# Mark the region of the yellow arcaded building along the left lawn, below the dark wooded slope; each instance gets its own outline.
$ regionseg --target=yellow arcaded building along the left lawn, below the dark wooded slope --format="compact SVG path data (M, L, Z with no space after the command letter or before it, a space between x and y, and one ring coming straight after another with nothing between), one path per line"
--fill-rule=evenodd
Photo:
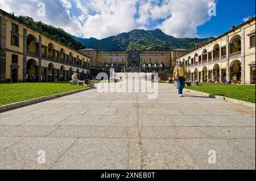
M0 82L67 81L90 77L90 57L0 10Z

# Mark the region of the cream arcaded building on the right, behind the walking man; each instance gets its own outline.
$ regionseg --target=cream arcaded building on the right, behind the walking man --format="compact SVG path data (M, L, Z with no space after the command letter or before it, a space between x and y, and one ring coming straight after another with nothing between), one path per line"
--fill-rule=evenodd
M188 80L255 84L255 17L177 58Z

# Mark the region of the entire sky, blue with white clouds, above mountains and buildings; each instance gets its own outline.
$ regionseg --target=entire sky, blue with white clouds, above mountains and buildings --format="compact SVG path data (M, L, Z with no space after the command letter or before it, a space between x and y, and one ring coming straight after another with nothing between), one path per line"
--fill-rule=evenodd
M44 16L38 15L40 2ZM216 16L208 15L212 2ZM1 0L0 8L97 39L155 28L175 37L212 37L255 16L255 0Z

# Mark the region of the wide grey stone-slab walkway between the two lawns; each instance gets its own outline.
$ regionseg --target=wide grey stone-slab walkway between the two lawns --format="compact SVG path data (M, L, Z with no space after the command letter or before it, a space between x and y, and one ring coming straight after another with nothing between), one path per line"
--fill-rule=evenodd
M84 91L1 113L0 169L255 169L255 110L166 84Z

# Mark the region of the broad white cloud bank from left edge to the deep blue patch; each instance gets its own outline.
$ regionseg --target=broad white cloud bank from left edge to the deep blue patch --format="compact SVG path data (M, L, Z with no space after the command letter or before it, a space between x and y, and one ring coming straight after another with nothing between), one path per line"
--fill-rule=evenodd
M197 27L210 19L208 3L214 0L1 0L0 8L31 16L80 37L104 37L134 29L147 30L161 19L160 28L175 37L197 37ZM37 4L46 3L46 16ZM19 3L19 6L16 4Z

